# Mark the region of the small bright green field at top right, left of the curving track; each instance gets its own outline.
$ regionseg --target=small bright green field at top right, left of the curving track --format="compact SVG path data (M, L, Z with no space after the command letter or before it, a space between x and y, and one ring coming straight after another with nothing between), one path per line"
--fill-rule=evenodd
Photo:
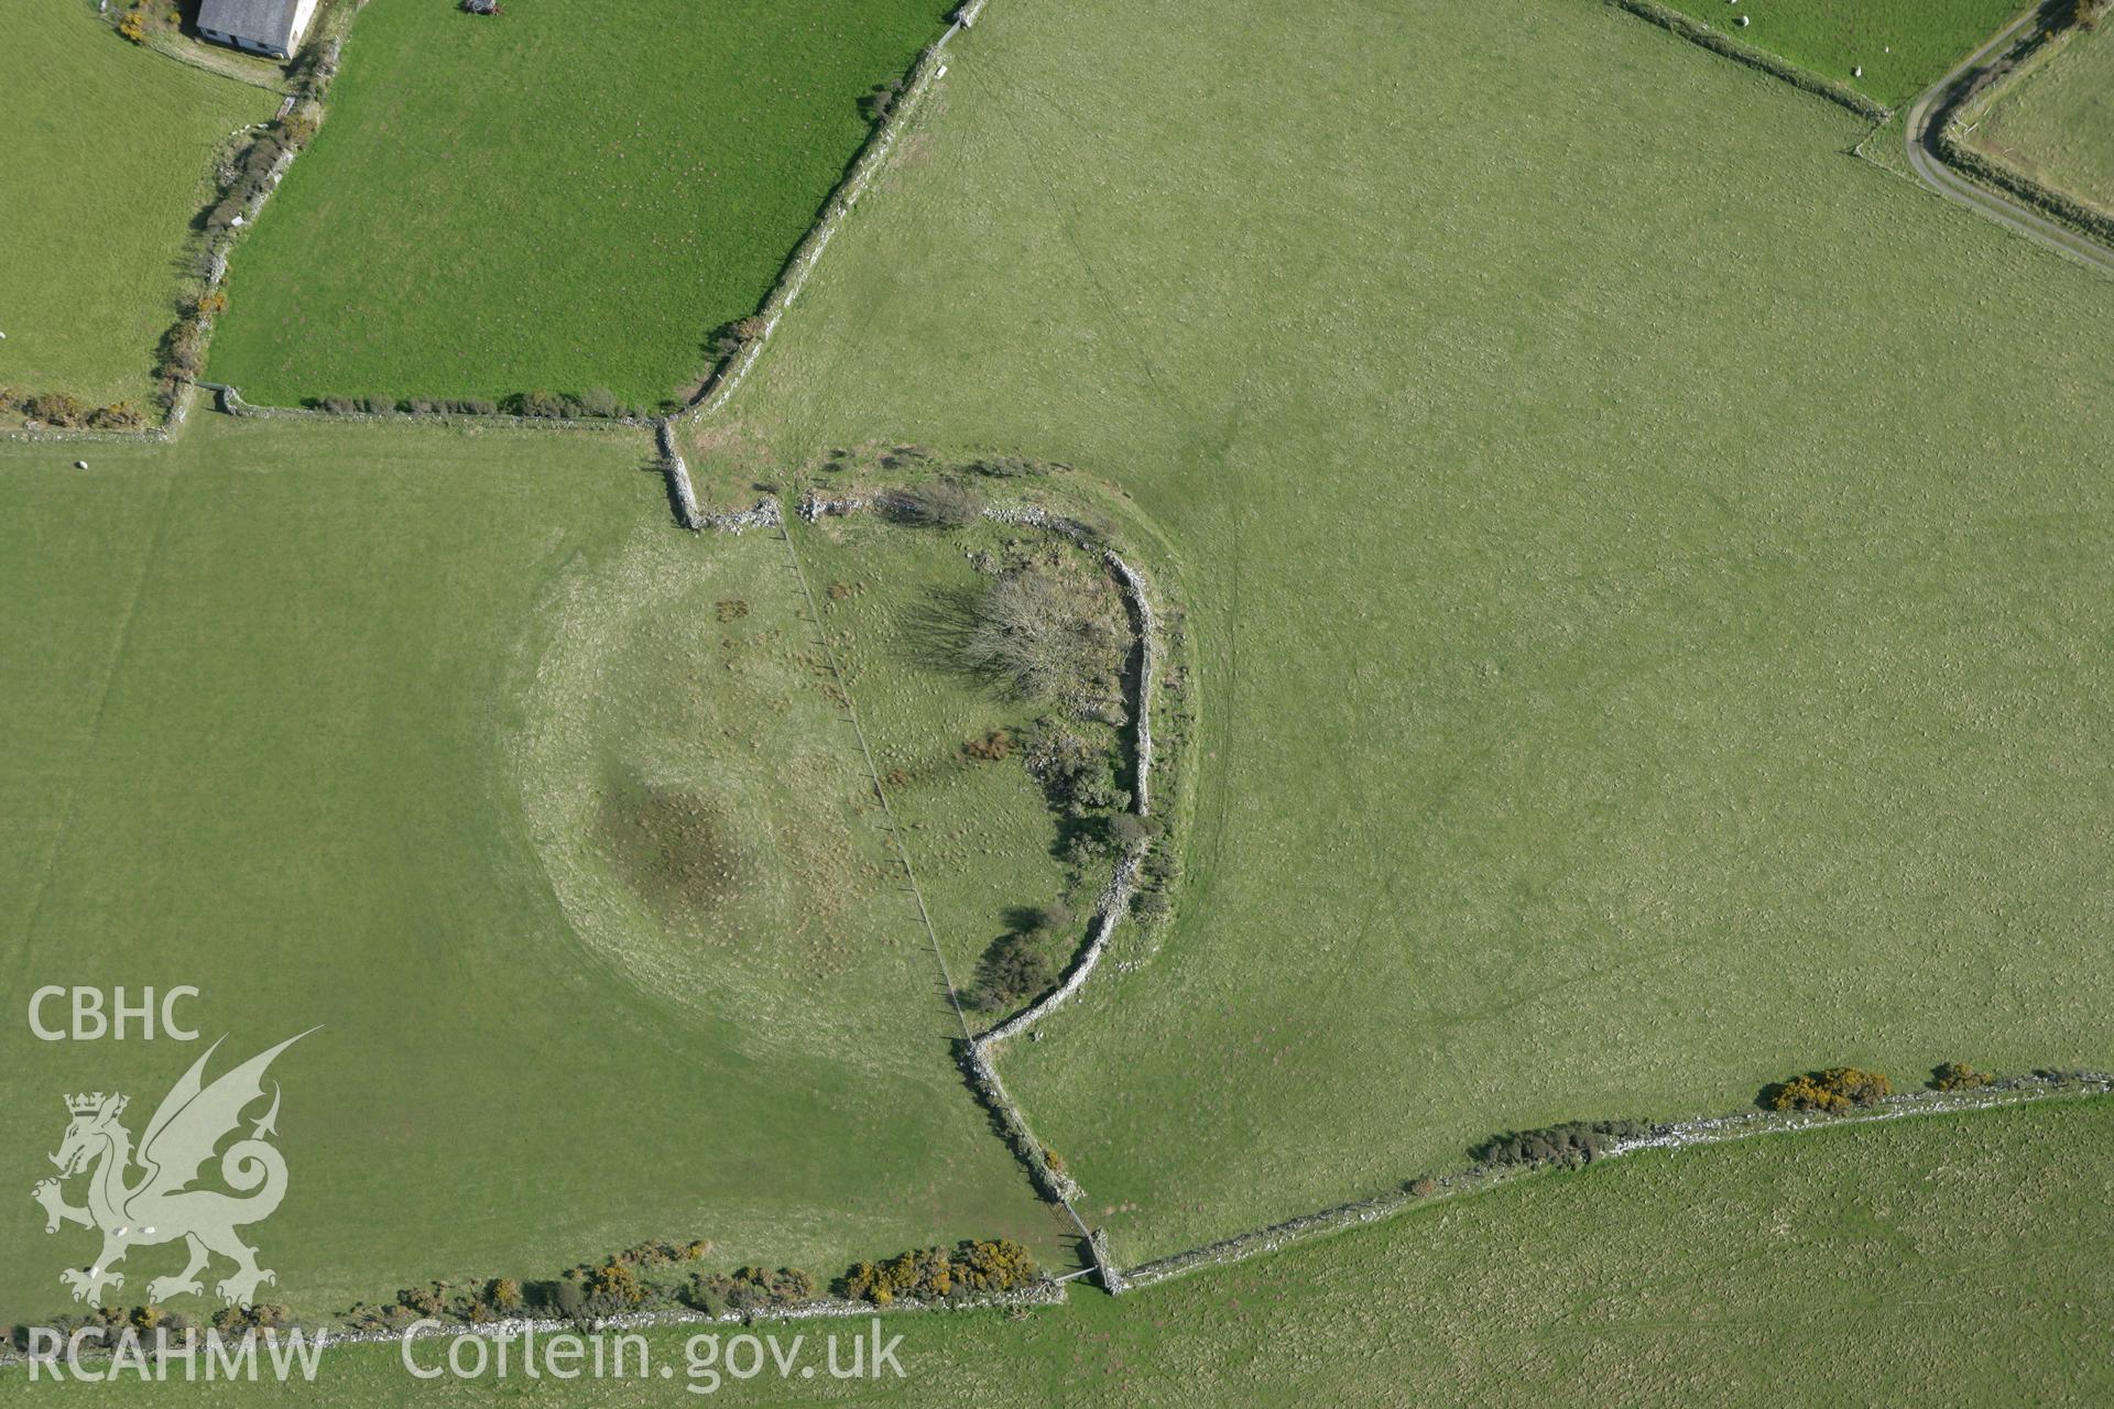
M1898 108L2004 27L2021 0L1664 0ZM1740 25L1740 15L1755 23ZM1865 70L1854 78L1856 68Z

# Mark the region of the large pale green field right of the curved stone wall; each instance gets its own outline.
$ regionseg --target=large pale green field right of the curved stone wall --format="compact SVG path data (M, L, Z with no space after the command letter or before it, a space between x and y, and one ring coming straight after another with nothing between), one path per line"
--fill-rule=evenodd
M700 444L1063 461L1177 545L1182 913L1004 1058L1123 1259L2114 1048L2114 289L1619 11L1488 23L994 11Z

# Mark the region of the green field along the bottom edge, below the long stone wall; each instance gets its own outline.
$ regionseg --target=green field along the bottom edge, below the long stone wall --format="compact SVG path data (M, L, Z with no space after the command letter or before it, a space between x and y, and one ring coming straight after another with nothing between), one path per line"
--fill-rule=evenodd
M2059 1105L1647 1153L1021 1322L896 1316L903 1379L721 1377L725 1403L1996 1405L2114 1394L2103 1276L2114 1109ZM831 1325L805 1335L820 1360ZM721 1339L740 1329L721 1329ZM693 1329L655 1331L683 1373ZM702 1354L702 1348L700 1348ZM438 1348L419 1350L438 1365ZM25 1386L57 1403L82 1386ZM676 1386L575 1382L569 1405ZM95 1388L279 1403L273 1386ZM395 1346L326 1352L304 1403L488 1405L552 1386L414 1382Z

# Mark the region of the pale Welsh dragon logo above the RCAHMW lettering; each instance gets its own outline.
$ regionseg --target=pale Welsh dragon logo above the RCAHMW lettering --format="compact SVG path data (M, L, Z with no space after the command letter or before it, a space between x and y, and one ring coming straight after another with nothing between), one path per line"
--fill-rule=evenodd
M243 1124L243 1111L264 1098L264 1069L307 1035L288 1037L207 1086L205 1063L220 1050L216 1041L163 1096L154 1117L146 1122L137 1151L131 1132L118 1124L127 1096L93 1092L66 1098L72 1124L66 1126L59 1153L51 1156L59 1177L40 1181L30 1194L44 1206L47 1234L59 1232L61 1223L104 1234L104 1251L89 1267L59 1274L59 1282L72 1286L74 1301L101 1305L106 1286L125 1286L125 1276L112 1270L125 1253L178 1238L190 1251L190 1261L180 1274L148 1282L148 1301L201 1293L199 1274L216 1253L235 1261L235 1272L214 1286L228 1305L249 1305L262 1282L279 1280L268 1267L258 1267L258 1251L235 1232L262 1223L285 1198L285 1158L266 1143L266 1136L277 1134L277 1082L271 1109L252 1124L247 1139L235 1141L220 1156L220 1179L245 1198L190 1185L214 1158L214 1147ZM133 1166L140 1168L137 1177L131 1177ZM61 1183L76 1175L89 1179L85 1208L68 1204L61 1191Z

